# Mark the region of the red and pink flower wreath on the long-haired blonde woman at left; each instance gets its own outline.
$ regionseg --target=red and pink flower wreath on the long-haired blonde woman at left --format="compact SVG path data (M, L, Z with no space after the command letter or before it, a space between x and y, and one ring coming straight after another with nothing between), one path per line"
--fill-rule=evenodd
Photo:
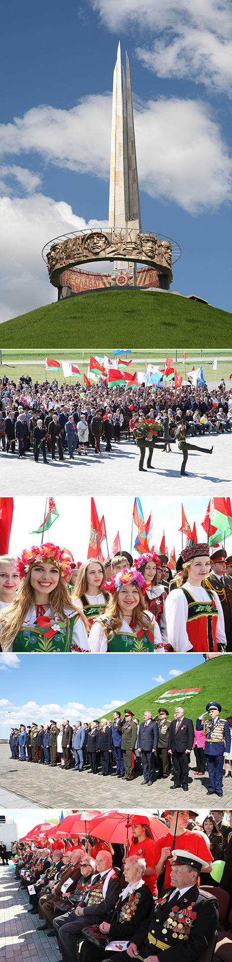
M73 557L68 548L60 548L58 544L40 544L40 546L33 544L32 547L25 547L21 557L16 560L16 570L19 573L20 581L29 570L42 561L56 565L61 577L66 580L71 570Z

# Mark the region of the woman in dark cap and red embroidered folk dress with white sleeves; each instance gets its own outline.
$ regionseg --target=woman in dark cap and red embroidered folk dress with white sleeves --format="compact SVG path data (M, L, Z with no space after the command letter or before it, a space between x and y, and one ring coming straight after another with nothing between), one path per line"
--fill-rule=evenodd
M226 646L223 612L217 592L205 588L210 569L209 544L181 551L179 587L165 605L169 644L174 651L218 651Z

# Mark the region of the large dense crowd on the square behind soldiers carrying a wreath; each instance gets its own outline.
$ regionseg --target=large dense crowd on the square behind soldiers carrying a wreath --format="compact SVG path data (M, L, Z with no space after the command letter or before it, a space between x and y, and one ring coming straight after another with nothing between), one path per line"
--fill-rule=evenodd
M75 453L76 460L81 455L101 455L103 450L109 454L112 443L118 445L126 438L140 447L139 469L145 470L145 449L149 448L147 466L151 468L157 439L162 440L166 452L171 452L175 440L183 451L188 435L231 432L231 427L232 389L225 391L223 378L212 391L206 384L194 388L191 383L176 389L171 384L161 385L155 391L144 383L125 391L123 387L109 388L102 378L87 387L79 381L58 387L56 378L51 384L47 380L33 384L29 374L21 375L17 384L7 375L0 379L2 451L26 458L31 450L35 462L40 452L45 464L56 456L59 461L65 456L74 460ZM195 445L188 443L191 447ZM182 474L186 473L186 461L187 457Z

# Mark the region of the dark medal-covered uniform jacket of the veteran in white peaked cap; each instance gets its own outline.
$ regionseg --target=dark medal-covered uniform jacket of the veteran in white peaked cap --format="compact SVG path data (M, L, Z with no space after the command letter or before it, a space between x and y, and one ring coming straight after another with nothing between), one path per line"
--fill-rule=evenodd
M174 890L173 890L174 891ZM174 911L175 904L178 905L178 909L187 908L188 905L193 905L193 911L197 913L197 918L192 924L190 929L188 942L186 945L185 939L181 941L177 938L173 942L173 930L168 928L167 930L167 948L169 962L194 962L202 952L207 949L207 946L211 942L214 933L217 930L217 925L219 922L219 911L218 911L218 900L209 896L208 893L201 895L198 891L197 885L193 885L187 893L180 899L173 899L172 905L172 889L166 889L161 893L161 897L168 897L171 894L171 898L168 899L165 904L156 905L155 910L152 909L150 919L146 919L141 925L140 929L133 936L132 942L141 949L139 954L143 955L146 959L149 955L156 954L155 945L152 944L148 939L148 933L151 933L153 939L160 939L164 942L164 933L162 933L162 928L164 927L165 921L169 918L170 912ZM186 903L186 899L188 899ZM158 949L158 957L163 956L162 950Z

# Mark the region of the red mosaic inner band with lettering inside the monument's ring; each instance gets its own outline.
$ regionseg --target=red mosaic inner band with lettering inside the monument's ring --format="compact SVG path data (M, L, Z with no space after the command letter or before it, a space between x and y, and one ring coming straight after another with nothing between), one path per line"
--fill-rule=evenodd
M58 300L66 297L75 297L77 294L86 291L103 290L170 290L170 276L164 274L153 267L141 267L135 269L128 267L125 269L113 270L110 274L90 273L90 271L79 270L73 267L64 270L59 276Z

